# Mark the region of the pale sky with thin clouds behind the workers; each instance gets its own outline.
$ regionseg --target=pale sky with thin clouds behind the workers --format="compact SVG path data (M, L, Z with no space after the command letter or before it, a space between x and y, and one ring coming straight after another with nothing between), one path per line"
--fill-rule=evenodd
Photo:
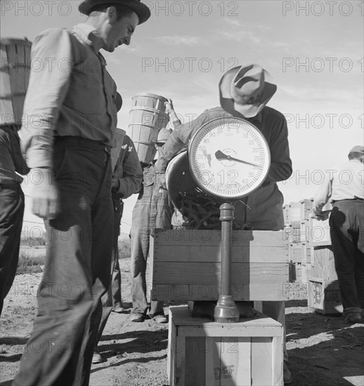
M118 127L128 132L131 98L171 98L186 122L219 105L221 76L257 63L277 84L268 106L285 114L292 177L280 182L285 203L313 197L334 164L364 144L363 1L144 1L151 18L136 28L130 46L102 51L123 98ZM32 41L50 27L86 20L79 0L1 0L1 37ZM27 181L25 181L27 182ZM26 195L30 184L23 183ZM42 227L25 201L23 234ZM136 195L125 200L128 233Z

